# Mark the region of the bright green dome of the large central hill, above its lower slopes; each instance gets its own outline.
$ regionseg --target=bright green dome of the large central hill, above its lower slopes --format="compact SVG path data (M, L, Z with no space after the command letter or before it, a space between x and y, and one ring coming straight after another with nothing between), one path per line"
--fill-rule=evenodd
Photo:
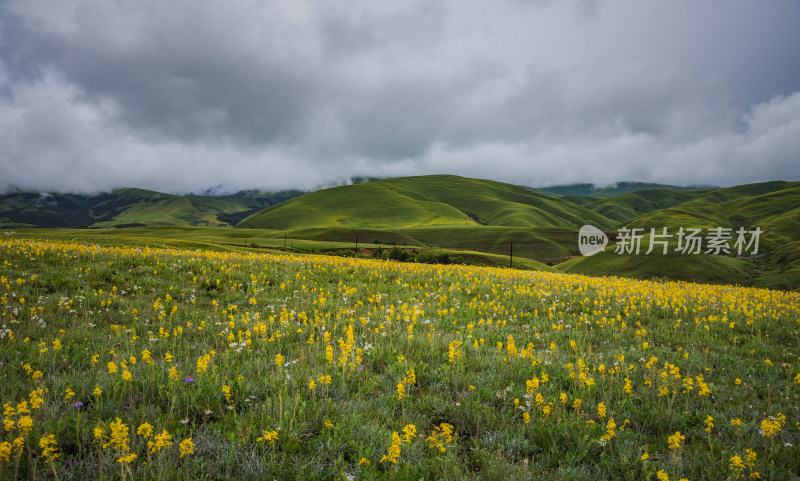
M403 229L431 226L608 227L605 217L525 187L451 175L334 187L265 209L237 227Z

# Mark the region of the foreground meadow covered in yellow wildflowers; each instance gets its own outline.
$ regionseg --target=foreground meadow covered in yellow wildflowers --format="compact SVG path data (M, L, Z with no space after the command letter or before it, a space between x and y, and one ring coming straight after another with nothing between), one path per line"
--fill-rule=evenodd
M0 238L1 479L796 479L800 295Z

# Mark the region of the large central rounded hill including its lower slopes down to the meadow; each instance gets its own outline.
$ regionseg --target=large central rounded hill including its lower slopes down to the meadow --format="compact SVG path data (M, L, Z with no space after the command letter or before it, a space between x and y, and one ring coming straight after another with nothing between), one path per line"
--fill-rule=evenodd
M615 221L527 187L452 175L402 177L311 192L237 225L290 238L447 247L554 264L575 255L585 223Z

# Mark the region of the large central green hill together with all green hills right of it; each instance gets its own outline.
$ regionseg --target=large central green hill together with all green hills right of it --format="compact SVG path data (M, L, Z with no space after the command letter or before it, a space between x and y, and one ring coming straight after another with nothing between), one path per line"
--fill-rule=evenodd
M630 186L623 186L630 187ZM386 179L297 197L248 217L237 227L285 231L289 237L402 244L512 254L564 272L699 282L800 287L800 183L765 182L705 190L645 190L610 197L545 197L532 189L455 176ZM577 230L609 234L607 252L580 257ZM757 256L613 253L620 227L760 227ZM735 253L734 253L735 254Z

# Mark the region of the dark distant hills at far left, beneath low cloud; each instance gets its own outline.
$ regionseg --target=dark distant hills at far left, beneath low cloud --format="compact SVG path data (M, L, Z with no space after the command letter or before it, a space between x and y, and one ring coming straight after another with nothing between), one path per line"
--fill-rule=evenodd
M177 196L132 188L91 196L13 193L0 196L0 227L230 226L300 194L246 191L218 197Z

